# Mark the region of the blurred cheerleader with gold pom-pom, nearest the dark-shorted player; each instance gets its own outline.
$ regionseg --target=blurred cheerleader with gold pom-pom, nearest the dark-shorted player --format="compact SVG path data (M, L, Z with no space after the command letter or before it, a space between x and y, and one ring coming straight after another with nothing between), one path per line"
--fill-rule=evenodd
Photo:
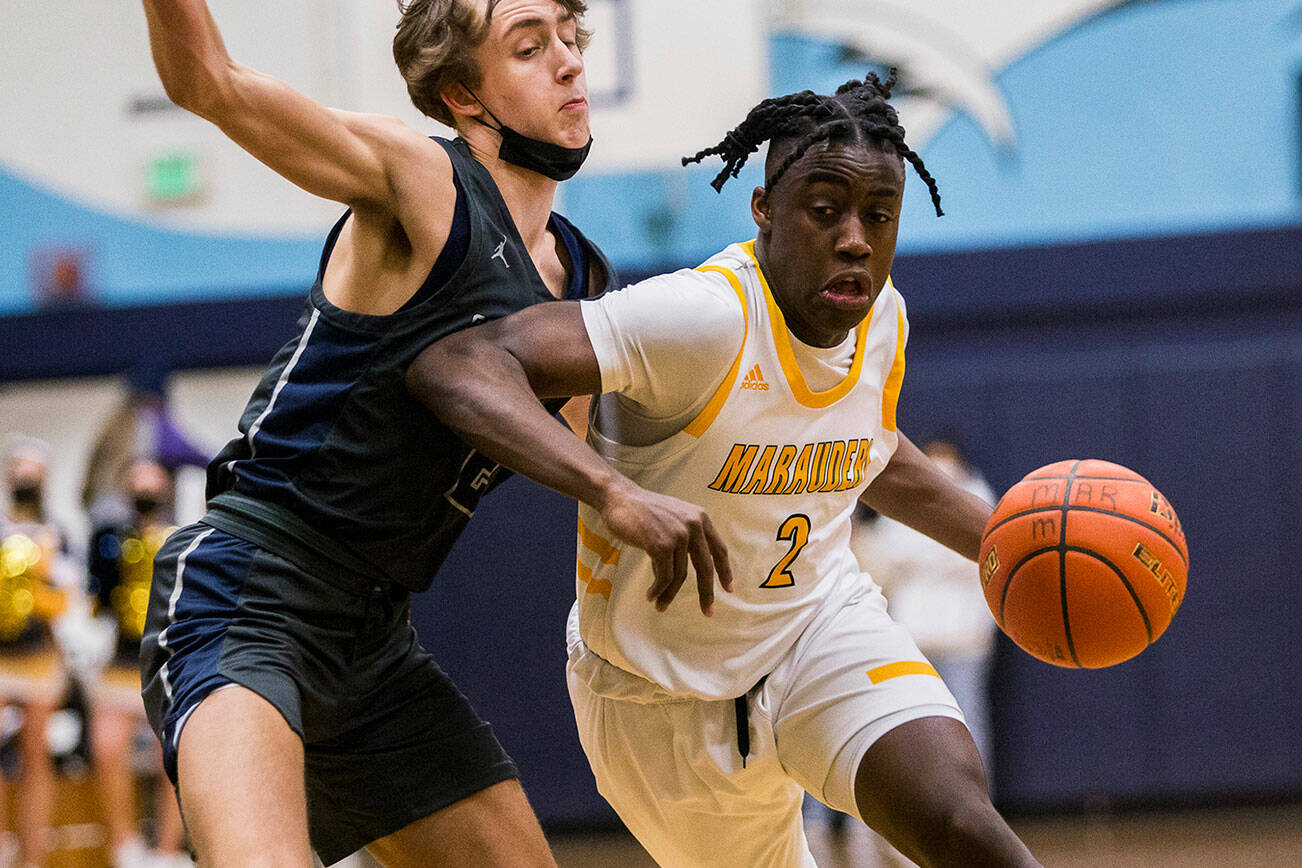
M91 757L100 807L113 848L115 868L189 865L182 852L181 812L163 774L163 752L148 738L158 778L151 854L135 822L133 743L148 734L141 700L141 632L150 600L154 556L176 530L172 524L172 474L156 461L137 459L126 472L130 521L104 527L90 543L90 584L96 622L112 642L112 657L87 685L91 709Z

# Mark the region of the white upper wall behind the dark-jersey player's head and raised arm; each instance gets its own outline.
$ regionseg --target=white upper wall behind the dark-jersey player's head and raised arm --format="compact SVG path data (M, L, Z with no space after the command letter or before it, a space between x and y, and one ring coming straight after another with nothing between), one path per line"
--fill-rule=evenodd
M713 141L767 86L763 0L592 0L595 94L628 99L594 113L592 165L672 164ZM232 56L333 107L445 130L408 100L393 65L391 0L210 0ZM164 103L139 3L4 0L0 27L0 170L118 216L191 232L318 234L339 206L302 193ZM626 22L626 23L625 23ZM622 34L622 36L621 36ZM631 74L621 74L629 66ZM145 170L184 148L201 156L198 202L152 206ZM667 163L668 161L668 163Z

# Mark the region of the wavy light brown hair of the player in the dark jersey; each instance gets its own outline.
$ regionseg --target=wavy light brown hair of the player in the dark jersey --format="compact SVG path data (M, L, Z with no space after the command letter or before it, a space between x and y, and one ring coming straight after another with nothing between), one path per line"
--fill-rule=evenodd
M402 20L393 36L393 60L408 85L411 104L422 115L454 126L452 111L440 92L450 83L478 86L483 70L474 49L488 38L492 13L500 0L487 0L483 17L473 0L398 0ZM556 0L578 22L578 48L591 34L583 29L585 0Z

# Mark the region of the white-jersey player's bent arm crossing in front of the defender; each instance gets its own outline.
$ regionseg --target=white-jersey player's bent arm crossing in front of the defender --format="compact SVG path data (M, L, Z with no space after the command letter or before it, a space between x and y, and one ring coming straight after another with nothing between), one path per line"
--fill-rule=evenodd
M646 550L655 571L647 600L661 612L689 560L702 612L711 612L716 571L732 591L727 547L703 509L638 487L539 403L602 390L578 302L535 305L444 337L408 368L408 388L467 444L592 506L616 536Z

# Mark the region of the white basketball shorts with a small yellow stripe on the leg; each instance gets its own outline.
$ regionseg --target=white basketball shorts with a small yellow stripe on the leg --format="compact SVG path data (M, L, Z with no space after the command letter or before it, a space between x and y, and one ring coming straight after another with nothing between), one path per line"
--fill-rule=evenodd
M747 694L750 753L734 700L673 695L596 656L570 612L566 668L598 790L664 868L812 868L802 790L859 816L854 776L881 735L962 713L867 576L824 604Z

